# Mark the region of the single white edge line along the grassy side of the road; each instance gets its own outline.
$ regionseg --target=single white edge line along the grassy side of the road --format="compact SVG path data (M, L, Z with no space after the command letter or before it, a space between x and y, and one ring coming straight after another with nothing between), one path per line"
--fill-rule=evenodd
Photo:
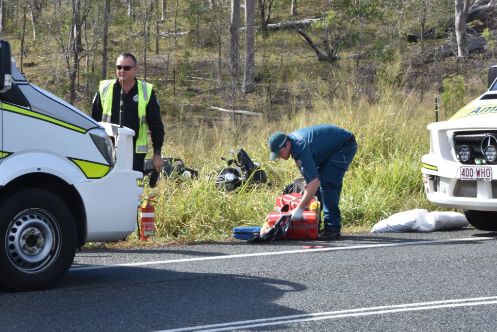
M284 254L293 254L293 253L310 253L310 252L316 252L316 251L372 249L372 248L383 248L383 247L414 246L414 245L426 245L426 244L450 243L450 242L486 241L486 240L495 240L495 239L497 239L497 237L413 241L413 242L388 243L388 244L381 244L381 245L364 245L364 246L350 246L350 247L332 247L332 248L300 249L300 250L287 250L287 251L270 251L270 252L258 252L258 253L243 253L243 254L236 254L236 255L227 254L224 256L209 256L209 257L183 258L183 259L170 259L170 260L157 260L157 261L153 260L153 261L145 261L145 262L112 264L112 265L81 266L81 267L72 267L69 269L69 271L94 270L94 269L101 269L101 268L112 268L112 267L123 267L123 266L158 265L158 264L182 263L182 262L190 262L190 261L215 260L215 259L231 259L231 258L242 258L242 257L253 257L253 256L284 255Z

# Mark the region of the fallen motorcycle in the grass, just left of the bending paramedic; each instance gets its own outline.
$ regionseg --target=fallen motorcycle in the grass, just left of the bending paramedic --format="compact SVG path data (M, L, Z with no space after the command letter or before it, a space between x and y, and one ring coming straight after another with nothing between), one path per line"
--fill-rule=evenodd
M234 153L235 151L231 150L229 155L231 156ZM221 159L227 162L228 167L218 170L212 176L218 187L231 191L245 183L248 185L261 183L270 185L270 183L267 183L266 172L260 168L261 164L252 162L244 149L238 149L237 159L227 159L225 157L221 157Z

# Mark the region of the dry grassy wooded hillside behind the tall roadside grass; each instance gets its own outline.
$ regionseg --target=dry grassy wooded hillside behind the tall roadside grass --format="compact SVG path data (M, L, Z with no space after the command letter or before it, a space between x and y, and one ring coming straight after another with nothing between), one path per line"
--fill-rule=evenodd
M295 30L264 33L260 31L257 16L260 3L268 5L262 1L256 8L254 93L244 94L240 91L243 79L241 70L238 76L233 76L228 71L230 7L226 4L210 7L196 7L192 3L181 1L177 2L176 7L170 4L171 7L166 13L168 18L158 21L154 27L156 31L151 29L151 25L155 24L155 16L150 16L148 24L151 34L148 39L143 35L143 27L146 26L143 13L147 9L150 10L145 3L141 6L137 4L133 20L121 12L122 8L119 9L117 5L112 7L113 20L108 31L108 58L103 60L109 68L106 77L114 77L115 57L122 51L130 51L139 59L139 76L143 79L146 75L147 80L155 84L166 117L175 117L178 114L181 116L185 112L202 112L208 106L216 106L262 112L271 119L273 116L291 115L296 110L308 109L312 103L309 97L316 91L323 93L323 97L332 99L368 96L368 101L375 103L382 99L382 93L385 93L382 77L387 81L393 80L394 82L389 81L387 84L395 84L401 93L414 92L420 99L425 98L427 94L440 93L442 81L451 74L464 77L469 88L468 94L479 93L484 88L488 67L496 62L494 50L488 47L471 53L464 60L457 60L454 56L441 56L444 52L433 52L454 49L454 36L450 32L441 34L437 39L425 41L422 47L424 51L419 43L409 43L406 37L408 33L419 31L419 18L415 15L416 4L411 7L384 4L381 12L366 22L361 40L358 37L357 20L352 20L340 36L343 40L338 52L339 59L333 63L317 61L312 49ZM450 8L453 3L443 5ZM273 4L268 23L284 22L296 17L323 17L327 2L313 0L299 3L300 15L296 17L287 14L290 11L288 6L285 2ZM95 8L92 10L96 10ZM401 13L401 9L406 13ZM50 14L50 10L47 6L40 12ZM347 15L348 11L345 8L340 13ZM24 39L19 39L19 35L15 33L6 33L4 38L12 43L13 55L28 79L70 101L68 80L74 59L71 59L72 55L68 56L67 48L61 52L64 35L57 36L56 32L64 33L64 30L61 27L56 31L47 29L49 19L58 18L58 15L42 16L45 24L40 25L36 39L32 39L26 32ZM63 11L60 15L63 15ZM92 25L85 25L83 33L86 44L92 41L91 38L94 38L93 43L96 44L88 50L86 56L83 54L81 57L76 82L74 103L84 111L88 110L97 82L101 79L101 36L90 34L92 28L99 27L100 13L96 11L95 15L97 16ZM427 26L436 26L438 21L445 19L440 15L430 13L427 16ZM119 19L122 20L123 17L126 21L120 26ZM20 20L19 17L15 18L16 22ZM399 19L406 20L408 24L396 26L399 23L396 20ZM495 34L495 26L492 26L492 23L491 20L472 22L469 25L471 38L480 36L484 27L490 28L491 35ZM171 32L178 34L171 38ZM167 33L169 37L164 38ZM123 39L123 36L126 38ZM311 36L316 40L319 31ZM243 32L240 39L243 61ZM24 50L22 62L21 40ZM357 53L360 41L363 57L357 63L352 55ZM473 89L478 91L473 92Z

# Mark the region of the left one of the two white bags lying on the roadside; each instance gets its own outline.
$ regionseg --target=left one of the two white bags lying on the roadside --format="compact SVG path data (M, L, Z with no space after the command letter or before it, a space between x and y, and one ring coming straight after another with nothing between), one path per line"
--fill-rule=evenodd
M396 213L374 225L371 233L415 231L427 213L428 210L425 209L414 209Z

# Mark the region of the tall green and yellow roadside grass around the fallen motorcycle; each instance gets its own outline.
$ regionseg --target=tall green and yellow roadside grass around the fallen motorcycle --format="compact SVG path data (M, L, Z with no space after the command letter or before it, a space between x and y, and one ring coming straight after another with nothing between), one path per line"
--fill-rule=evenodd
M333 123L355 133L358 152L347 171L340 199L343 232L371 227L394 213L414 208L439 209L423 193L421 156L429 148L426 125L432 110L414 95L395 96L387 103L369 105L365 100L326 103L314 98L319 108L299 111L291 119L260 121L246 116L243 127L226 116L218 125L168 130L167 157L183 159L199 170L197 180L177 183L163 179L145 195L156 195L157 243L227 241L237 226L261 226L273 211L283 186L299 177L293 160L268 160L267 138L274 131L290 132L304 126ZM427 102L428 104L431 101ZM357 107L360 105L360 107ZM225 167L219 158L244 148L253 161L263 164L272 188L258 186L236 191L218 190L209 172ZM138 237L133 234L129 241Z

